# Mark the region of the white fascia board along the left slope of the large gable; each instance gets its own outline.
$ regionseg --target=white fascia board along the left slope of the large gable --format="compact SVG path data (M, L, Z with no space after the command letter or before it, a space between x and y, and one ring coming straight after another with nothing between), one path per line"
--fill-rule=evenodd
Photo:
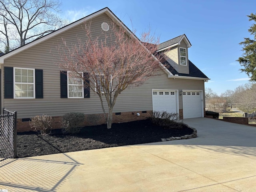
M20 52L22 52L22 51L24 51L24 50L26 50L26 49L28 49L30 47L33 47L33 46L35 46L35 45L37 45L37 44L39 44L41 42L44 42L44 41L46 41L46 40L48 40L48 39L50 39L50 38L52 38L52 37L54 37L54 36L56 36L58 34L61 34L61 33L65 32L65 31L67 31L67 30L69 30L69 29L71 29L71 28L73 28L75 26L78 26L78 25L84 23L86 20L90 20L90 19L92 19L92 18L94 18L94 17L96 17L96 16L98 16L98 15L104 13L104 12L108 12L109 14L112 15L112 13L110 12L110 10L108 8L104 8L104 9L102 9L102 10L100 10L98 12L95 12L95 13L87 16L87 17L84 17L84 18L82 18L82 19L80 19L80 20L78 20L76 22L73 22L73 23L71 23L71 24L69 24L69 25L67 25L67 26L65 26L63 28L60 28L59 30L56 30L55 32L47 34L46 36L43 36L43 37L41 37L38 40L30 42L30 43L28 43L28 44L26 44L26 45L24 45L24 46L22 46L20 48L17 48L14 51L11 51L10 53L7 53L7 54L1 56L0 57L0 64L3 64L5 59L7 59L7 58L9 58L11 56L14 56L15 54L18 54L18 53L20 53Z

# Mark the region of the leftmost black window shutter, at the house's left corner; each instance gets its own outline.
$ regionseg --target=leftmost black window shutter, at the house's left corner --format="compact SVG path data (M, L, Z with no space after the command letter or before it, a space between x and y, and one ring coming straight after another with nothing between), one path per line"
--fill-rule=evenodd
M13 68L4 67L4 98L13 98Z

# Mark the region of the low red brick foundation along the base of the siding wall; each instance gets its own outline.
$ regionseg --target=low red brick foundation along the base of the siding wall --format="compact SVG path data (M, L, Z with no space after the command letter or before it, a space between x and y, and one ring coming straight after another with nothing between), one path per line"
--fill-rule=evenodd
M118 122L129 122L136 120L143 120L150 116L150 112L152 111L137 111L137 112L121 112L120 114L113 113L113 123ZM137 116L137 113L140 113L140 116ZM92 125L100 125L106 124L106 120L104 118L104 114L90 114L84 115L85 119L82 126L92 126ZM53 129L61 128L61 116L52 117L53 118ZM31 131L29 121L22 122L22 119L17 120L17 132L26 132Z

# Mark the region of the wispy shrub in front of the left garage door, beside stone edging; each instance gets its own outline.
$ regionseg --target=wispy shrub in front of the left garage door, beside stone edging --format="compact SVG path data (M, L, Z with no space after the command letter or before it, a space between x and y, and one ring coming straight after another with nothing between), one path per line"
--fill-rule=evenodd
M176 122L179 120L179 114L168 113L166 111L153 111L150 114L150 120L153 124L164 127L165 129L170 128L182 128L182 122Z

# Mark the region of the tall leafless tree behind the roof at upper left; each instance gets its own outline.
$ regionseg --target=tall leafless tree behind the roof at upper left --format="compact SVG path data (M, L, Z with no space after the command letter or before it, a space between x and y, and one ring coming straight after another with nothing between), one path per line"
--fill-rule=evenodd
M1 0L0 46L5 52L23 46L66 24L56 14L58 0Z

